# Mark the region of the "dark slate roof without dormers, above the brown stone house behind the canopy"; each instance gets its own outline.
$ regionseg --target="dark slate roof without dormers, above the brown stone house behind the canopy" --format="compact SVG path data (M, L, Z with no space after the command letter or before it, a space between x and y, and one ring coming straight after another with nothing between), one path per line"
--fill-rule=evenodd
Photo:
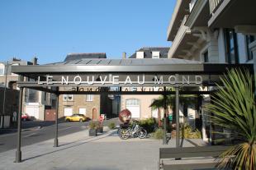
M65 58L64 62L83 58L107 58L106 53L69 53Z

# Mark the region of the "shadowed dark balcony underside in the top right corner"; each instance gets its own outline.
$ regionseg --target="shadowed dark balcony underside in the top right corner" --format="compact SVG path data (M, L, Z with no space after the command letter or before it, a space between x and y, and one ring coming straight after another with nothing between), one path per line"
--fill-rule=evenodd
M224 0L208 21L211 29L256 25L255 0Z

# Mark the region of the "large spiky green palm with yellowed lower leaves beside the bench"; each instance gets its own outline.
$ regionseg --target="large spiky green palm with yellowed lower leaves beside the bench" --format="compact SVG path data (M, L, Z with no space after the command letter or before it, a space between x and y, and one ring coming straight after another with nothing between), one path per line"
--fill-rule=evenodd
M247 70L232 69L220 80L224 86L218 85L219 90L206 108L213 113L213 116L210 116L211 122L230 130L231 137L239 140L239 143L220 155L218 167L256 169L256 104L253 77Z

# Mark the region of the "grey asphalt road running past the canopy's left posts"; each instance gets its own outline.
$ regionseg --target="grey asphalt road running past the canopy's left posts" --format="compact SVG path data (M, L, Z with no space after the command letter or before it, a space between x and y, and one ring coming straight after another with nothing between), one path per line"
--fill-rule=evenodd
M88 122L60 122L59 136L65 136L74 132L83 131L88 128ZM0 153L16 149L17 147L17 130L8 129L0 130ZM21 146L32 145L44 140L55 138L54 122L22 122Z

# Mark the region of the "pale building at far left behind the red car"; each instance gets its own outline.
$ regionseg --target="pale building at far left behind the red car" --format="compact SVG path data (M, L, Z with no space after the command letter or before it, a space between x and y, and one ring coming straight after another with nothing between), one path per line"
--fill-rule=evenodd
M2 120L6 122L7 126L10 126L12 122L16 122L16 115L18 109L18 90L17 81L19 77L17 74L12 73L12 66L29 66L37 65L37 58L34 57L31 62L22 61L21 59L12 58L11 61L0 63L0 84L2 86L2 103L0 105L0 111ZM5 96L5 97L4 97ZM12 98L10 99L10 97ZM5 99L4 99L5 98ZM12 100L12 104L8 102ZM36 120L45 120L45 108L51 108L54 97L51 94L40 92L38 90L25 89L23 96L23 110L22 113L27 113L31 118ZM7 102L8 101L8 102ZM8 104L6 104L8 103ZM5 105L5 108L3 108ZM11 108L9 106L12 106ZM3 125L4 123L2 123Z

